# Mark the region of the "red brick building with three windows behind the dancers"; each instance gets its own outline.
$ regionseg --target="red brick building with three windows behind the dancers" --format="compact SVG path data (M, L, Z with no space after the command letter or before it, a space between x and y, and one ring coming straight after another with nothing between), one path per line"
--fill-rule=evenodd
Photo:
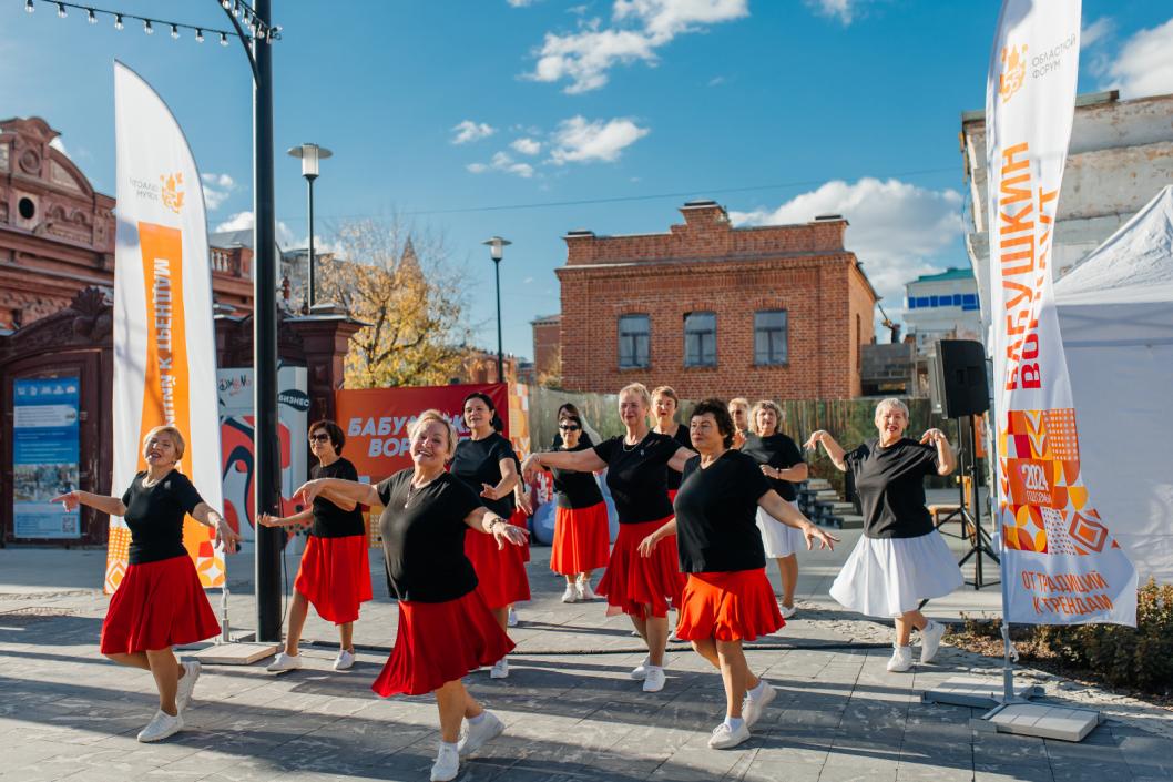
M689 202L666 234L565 236L562 385L667 384L687 399L860 396L876 294L839 215L733 228ZM536 336L535 336L536 341ZM535 346L536 352L536 346Z

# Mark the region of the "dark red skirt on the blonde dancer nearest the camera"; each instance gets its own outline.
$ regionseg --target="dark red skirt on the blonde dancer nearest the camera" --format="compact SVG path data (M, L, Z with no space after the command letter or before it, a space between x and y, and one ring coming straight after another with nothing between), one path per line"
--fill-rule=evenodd
M514 642L475 589L446 602L399 601L399 633L379 695L423 695L506 656Z

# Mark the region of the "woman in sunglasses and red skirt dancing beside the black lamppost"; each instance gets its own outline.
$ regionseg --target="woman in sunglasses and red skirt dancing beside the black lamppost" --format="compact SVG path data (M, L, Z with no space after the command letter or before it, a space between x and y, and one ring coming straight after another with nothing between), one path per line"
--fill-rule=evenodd
M350 459L343 458L344 445L346 434L334 422L319 420L310 426L310 451L318 459L311 476L358 481L359 471ZM327 622L338 626L334 670L346 670L354 665L354 621L359 618L359 606L373 596L362 512L353 501L319 494L313 505L300 513L284 518L263 513L258 521L266 527L312 523L310 539L301 552L301 566L293 581L285 650L277 654L266 670L301 667L298 643L310 606Z

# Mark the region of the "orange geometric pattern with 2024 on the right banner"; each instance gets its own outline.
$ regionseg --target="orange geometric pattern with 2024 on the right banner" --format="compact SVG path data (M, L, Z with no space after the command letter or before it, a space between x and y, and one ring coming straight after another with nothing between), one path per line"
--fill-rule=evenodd
M998 425L998 467L1006 548L1083 555L1117 547L1087 506L1073 409L1009 411Z

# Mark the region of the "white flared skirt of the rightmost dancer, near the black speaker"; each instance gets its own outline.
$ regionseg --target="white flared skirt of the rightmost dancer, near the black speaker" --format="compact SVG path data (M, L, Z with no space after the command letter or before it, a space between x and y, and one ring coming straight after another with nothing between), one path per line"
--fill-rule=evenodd
M900 616L921 600L943 598L964 582L941 533L860 538L830 596L867 616Z

